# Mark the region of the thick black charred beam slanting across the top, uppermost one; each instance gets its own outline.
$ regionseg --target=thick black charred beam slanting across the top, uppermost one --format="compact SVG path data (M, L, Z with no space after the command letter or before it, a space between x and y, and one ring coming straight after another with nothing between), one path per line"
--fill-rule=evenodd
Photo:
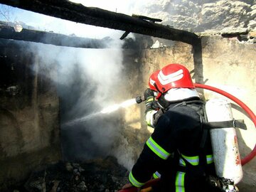
M82 4L75 4L70 1L0 0L0 3L92 26L101 26L121 31L129 31L132 33L140 33L147 36L181 41L191 45L194 45L195 42L198 43L198 36L196 36L195 33L146 21L142 17L138 18L112 11L106 11L104 9L86 7L82 6Z

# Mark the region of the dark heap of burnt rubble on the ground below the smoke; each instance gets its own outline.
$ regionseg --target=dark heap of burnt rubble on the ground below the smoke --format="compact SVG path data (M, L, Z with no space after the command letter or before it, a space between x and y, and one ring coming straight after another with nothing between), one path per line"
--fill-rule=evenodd
M129 171L119 165L117 159L112 156L80 163L60 161L33 172L24 184L22 191L115 192L128 182L128 174Z

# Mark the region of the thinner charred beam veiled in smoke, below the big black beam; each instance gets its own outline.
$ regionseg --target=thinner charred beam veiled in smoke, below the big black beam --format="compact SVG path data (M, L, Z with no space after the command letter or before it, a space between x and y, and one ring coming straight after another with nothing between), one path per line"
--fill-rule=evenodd
M107 45L107 42L103 40L65 36L58 33L35 31L26 28L23 28L21 32L16 32L11 26L0 26L0 38L75 48L106 48L105 45Z

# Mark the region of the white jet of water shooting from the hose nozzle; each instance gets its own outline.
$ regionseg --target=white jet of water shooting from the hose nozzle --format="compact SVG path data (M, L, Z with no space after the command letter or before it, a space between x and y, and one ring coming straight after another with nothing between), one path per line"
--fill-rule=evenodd
M94 112L92 114L86 115L85 117L80 117L78 119L73 119L69 122L64 123L63 126L72 126L74 124L77 124L78 122L85 122L87 119L92 119L93 117L96 117L97 115L109 114L111 112L119 110L120 108L126 108L126 107L129 107L129 106L134 105L136 103L140 103L142 101L144 101L144 97L138 96L135 99L133 98L131 100L126 100L126 101L124 101L120 104L114 104L114 105L111 105L109 107L105 107L100 112Z

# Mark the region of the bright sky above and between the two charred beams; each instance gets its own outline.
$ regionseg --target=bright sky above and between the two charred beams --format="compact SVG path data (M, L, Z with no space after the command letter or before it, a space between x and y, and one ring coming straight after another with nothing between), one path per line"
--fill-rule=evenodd
M117 13L127 14L131 16L134 11L142 6L142 3L138 3L134 0L126 1L82 1L72 0L74 3L79 3L88 7L98 7L107 11L113 11ZM145 2L143 4L146 4ZM5 6L5 5L2 5ZM9 19L14 23L25 23L27 26L32 26L39 31L51 31L53 33L61 33L65 35L75 35L86 38L105 38L106 36L119 37L122 36L123 31L114 30L111 28L102 28L98 26L90 26L83 23L75 23L73 21L66 21L60 18L52 16L46 16L38 14L32 11L26 11L9 6L11 14Z

